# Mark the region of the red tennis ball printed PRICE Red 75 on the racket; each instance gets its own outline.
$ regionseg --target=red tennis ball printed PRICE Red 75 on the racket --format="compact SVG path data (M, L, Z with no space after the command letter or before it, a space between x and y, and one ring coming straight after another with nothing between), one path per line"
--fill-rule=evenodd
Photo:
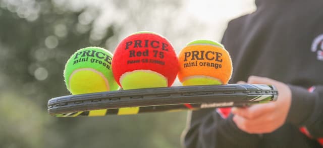
M113 73L123 89L171 86L178 73L172 44L154 32L129 35L116 47Z

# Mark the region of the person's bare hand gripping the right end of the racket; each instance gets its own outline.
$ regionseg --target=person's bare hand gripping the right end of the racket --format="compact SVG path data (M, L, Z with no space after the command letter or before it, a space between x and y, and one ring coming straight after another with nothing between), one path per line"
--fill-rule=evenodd
M240 83L243 83L240 81ZM282 82L265 78L250 76L250 84L271 84L278 90L276 102L257 104L247 108L232 108L233 121L238 128L253 134L270 133L281 127L285 121L291 105L291 90Z

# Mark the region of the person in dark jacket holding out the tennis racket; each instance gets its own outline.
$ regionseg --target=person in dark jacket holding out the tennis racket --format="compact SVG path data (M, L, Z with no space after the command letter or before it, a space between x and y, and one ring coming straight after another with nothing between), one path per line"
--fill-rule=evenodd
M193 111L184 147L323 146L323 1L256 0L228 23L230 83L271 84L276 102Z

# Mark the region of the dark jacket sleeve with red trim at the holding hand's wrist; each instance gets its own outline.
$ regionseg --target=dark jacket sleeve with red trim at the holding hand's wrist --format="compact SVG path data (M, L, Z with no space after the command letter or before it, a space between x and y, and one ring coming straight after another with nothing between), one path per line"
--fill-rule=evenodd
M286 121L301 127L301 131L311 138L323 138L323 85L308 89L294 85L289 87L292 102Z

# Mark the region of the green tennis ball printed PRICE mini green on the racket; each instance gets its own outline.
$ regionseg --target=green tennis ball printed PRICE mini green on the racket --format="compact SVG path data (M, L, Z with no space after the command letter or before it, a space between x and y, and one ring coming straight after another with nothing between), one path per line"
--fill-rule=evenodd
M112 72L113 55L100 47L86 47L67 61L64 79L72 94L117 90Z

